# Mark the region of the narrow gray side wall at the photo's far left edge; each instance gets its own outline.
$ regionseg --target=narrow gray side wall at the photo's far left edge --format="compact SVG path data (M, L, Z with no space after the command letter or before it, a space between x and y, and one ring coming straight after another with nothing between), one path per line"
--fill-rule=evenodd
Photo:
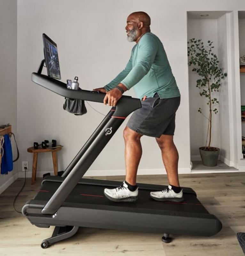
M17 0L0 1L0 60L0 124L10 123L17 136ZM14 163L12 172L0 175L0 193L11 184L16 170Z

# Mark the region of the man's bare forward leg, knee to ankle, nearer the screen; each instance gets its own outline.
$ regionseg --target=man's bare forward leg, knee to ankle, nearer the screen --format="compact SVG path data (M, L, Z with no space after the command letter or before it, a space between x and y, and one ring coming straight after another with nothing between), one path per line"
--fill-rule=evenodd
M142 147L139 134L126 126L123 131L123 138L125 142L125 165L126 165L126 181L132 185L136 185L136 175L139 161L142 155Z

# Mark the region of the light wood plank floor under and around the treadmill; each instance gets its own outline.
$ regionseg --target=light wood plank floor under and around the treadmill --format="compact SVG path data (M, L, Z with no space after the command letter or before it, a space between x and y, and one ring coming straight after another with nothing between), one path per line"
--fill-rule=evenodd
M91 177L123 180L124 177ZM170 244L163 244L159 233L79 228L73 237L42 249L40 243L52 234L51 228L38 228L13 210L13 199L23 178L16 180L0 195L0 255L132 255L132 256L242 256L236 239L245 232L245 173L216 173L180 175L181 186L192 187L207 210L216 215L223 229L212 237L175 235ZM139 176L139 183L168 184L164 175ZM27 179L16 208L32 199L41 179L31 185Z

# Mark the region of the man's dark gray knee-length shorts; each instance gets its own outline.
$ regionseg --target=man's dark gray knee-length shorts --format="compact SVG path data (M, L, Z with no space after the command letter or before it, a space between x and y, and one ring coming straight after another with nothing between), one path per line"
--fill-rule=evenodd
M142 107L134 111L127 127L140 134L159 138L162 134L174 135L175 113L180 104L180 96L160 99L154 97L141 101Z

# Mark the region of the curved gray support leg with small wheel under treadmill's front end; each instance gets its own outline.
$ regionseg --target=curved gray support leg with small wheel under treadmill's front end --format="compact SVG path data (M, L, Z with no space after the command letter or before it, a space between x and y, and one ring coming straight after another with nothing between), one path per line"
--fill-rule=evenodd
M43 249L48 248L51 244L67 239L76 234L79 227L76 226L65 226L55 227L53 234L50 238L44 239L41 243Z

